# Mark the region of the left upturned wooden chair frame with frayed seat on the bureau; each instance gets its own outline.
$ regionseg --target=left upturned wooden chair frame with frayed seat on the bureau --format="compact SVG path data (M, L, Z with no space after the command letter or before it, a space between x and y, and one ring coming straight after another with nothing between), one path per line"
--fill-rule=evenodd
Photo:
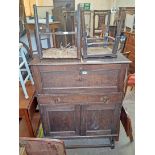
M72 13L71 12L67 12L67 13ZM78 14L78 13L77 13ZM42 29L40 29L40 24L39 24L39 20L38 20L38 13L37 13L37 7L36 5L34 5L34 16L35 16L35 34L36 34L36 42L37 42L37 50L38 50L38 54L39 54L39 57L40 59L43 59L43 58L50 58L50 59L80 59L81 58L81 50L80 50L80 45L81 45L81 37L80 37L80 18L77 17L77 32L75 32L75 28L73 28L74 31L70 31L70 32L50 32L49 31L49 21L48 21L48 12L46 13L46 24L44 24L42 26ZM74 22L75 23L75 22ZM43 30L43 27L46 27L45 30ZM73 26L72 26L73 27ZM50 57L44 57L43 56L43 48L42 48L42 45L41 45L41 35L45 35L47 36L46 39L48 39L48 45L49 45L49 48L48 48L48 51L46 50L46 52L48 53L52 53L52 52L55 52L57 53L58 52L58 55L56 54L56 56L50 56ZM67 45L65 45L65 47L62 46L62 42L60 42L60 48L51 48L50 46L50 35L52 36L56 36L56 35L61 35L61 36L65 36L66 38L66 35L72 35L72 40L73 40L73 35L75 35L75 40L74 43L75 43L75 48L70 45L70 43L67 43ZM55 38L55 37L53 37ZM72 56L69 55L69 51L72 51ZM61 56L59 54L59 52L61 52L61 55L64 53L63 52L66 52L66 56ZM77 53L77 55L75 54L75 52ZM73 56L74 55L74 56Z

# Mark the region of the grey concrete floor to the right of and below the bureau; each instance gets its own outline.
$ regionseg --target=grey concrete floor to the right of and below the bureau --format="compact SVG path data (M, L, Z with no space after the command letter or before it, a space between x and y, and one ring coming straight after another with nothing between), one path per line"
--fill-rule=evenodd
M135 91L128 89L123 102L125 109L127 110L133 128L133 136L135 129ZM134 136L135 137L135 136ZM120 139L116 142L115 149L110 148L80 148L80 149L67 149L67 155L134 155L135 143L130 143L129 138L126 136L124 128L121 124L120 127Z

